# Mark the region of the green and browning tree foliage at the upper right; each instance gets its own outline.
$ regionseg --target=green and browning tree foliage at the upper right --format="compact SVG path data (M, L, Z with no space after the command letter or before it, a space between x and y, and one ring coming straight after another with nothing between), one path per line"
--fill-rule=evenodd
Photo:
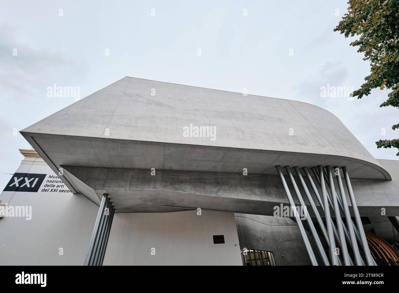
M334 31L345 37L359 36L350 43L359 46L363 60L370 61L371 74L353 96L359 99L368 96L373 88L391 89L388 99L380 107L399 108L399 0L349 0L348 13L344 15ZM398 129L399 124L392 126ZM399 139L379 140L377 148L399 149ZM396 154L399 156L399 152Z

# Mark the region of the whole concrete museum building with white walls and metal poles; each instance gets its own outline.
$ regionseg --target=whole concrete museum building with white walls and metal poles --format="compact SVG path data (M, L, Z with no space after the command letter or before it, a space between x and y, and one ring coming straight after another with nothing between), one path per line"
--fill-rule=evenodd
M399 161L322 108L125 77L21 134L5 264L398 264Z

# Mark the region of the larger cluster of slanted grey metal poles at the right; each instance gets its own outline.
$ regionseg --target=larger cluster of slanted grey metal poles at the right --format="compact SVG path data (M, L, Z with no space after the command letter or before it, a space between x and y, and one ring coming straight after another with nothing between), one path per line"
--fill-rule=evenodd
M292 187L294 188L300 206L305 211L307 211L302 195L300 194L300 191L298 189L298 185L296 184L294 176L291 173L290 166L285 166L284 168L286 169L288 178L290 179ZM306 246L306 250L309 254L310 262L312 263L312 265L318 265L316 256L312 250L312 246L310 245L310 241L306 234L305 228L301 222L302 220L300 219L299 214L296 212L297 209L294 204L294 199L292 198L290 190L288 189L288 185L285 181L280 165L277 165L276 169L277 172L279 173L282 185L284 187L284 191L287 195L288 202L290 203L291 209L294 211L294 218L296 223L298 224L300 234ZM326 166L325 168L323 168L322 165L319 165L317 169L315 167L312 167L310 169L312 170L314 178L316 179L318 185L320 186L321 196L318 189L316 188L316 185L313 182L312 176L310 175L308 168L307 167L302 168L305 177L308 180L309 185L317 201L320 204L321 210L324 212L324 219L326 224L324 224L322 216L320 215L320 213L316 208L312 195L310 194L310 191L304 181L304 178L302 177L302 174L300 173L299 168L297 166L294 167L297 179L300 185L302 186L306 199L308 199L308 202L310 204L310 207L312 208L317 223L320 226L321 234L330 248L331 261L330 258L327 257L326 252L324 251L320 237L312 222L312 218L310 216L306 216L306 222L309 226L310 233L312 234L314 243L316 244L319 256L323 264L342 265L342 262L339 258L339 255L342 255L344 265L376 265L374 259L371 256L370 249L367 244L367 239L363 230L363 225L361 223L358 206L356 205L356 199L354 197L352 185L350 183L346 167L342 167L340 169L340 167L336 166L333 169L338 184L338 190L340 196L338 196L338 193L336 192L334 186L331 166ZM356 224L352 221L352 218L350 216L350 210L348 202L346 200L344 185L342 183L342 178L340 175L341 170L344 175L346 189L348 191L350 202L352 204L352 210L355 216ZM326 185L328 185L330 193L328 193ZM334 213L336 223L334 223L331 218L330 208ZM342 221L341 212L344 215L346 224ZM336 243L338 244L338 247L336 246ZM348 252L347 244L350 245L350 248L352 250L352 257ZM360 250L363 251L365 260L363 260L363 258L361 257Z

